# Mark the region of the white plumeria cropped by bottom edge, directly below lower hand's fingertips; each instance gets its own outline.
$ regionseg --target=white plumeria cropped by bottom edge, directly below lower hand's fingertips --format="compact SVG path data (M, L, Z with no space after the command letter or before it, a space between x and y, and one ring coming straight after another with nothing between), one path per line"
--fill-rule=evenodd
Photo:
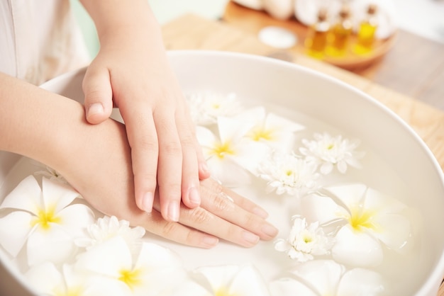
M196 269L204 275L214 296L270 295L267 283L256 268L245 266L204 266Z

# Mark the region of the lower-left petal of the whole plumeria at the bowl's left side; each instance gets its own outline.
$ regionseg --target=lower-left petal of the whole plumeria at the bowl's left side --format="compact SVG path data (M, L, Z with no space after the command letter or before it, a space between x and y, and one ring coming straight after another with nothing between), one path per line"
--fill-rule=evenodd
M0 244L16 257L33 229L32 215L28 212L15 211L0 219Z

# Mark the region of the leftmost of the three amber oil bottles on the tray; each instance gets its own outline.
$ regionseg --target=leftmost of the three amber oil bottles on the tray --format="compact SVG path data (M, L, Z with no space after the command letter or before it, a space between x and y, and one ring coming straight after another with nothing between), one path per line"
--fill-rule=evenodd
M329 30L330 24L327 21L327 11L326 9L321 8L318 11L318 19L316 23L309 27L305 38L304 45L308 55L318 59L323 58Z

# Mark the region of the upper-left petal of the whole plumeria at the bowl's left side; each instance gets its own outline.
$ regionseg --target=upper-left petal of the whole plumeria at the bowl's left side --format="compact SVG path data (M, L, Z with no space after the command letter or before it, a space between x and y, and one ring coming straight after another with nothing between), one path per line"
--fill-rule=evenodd
M0 209L9 207L38 214L41 205L42 190L34 176L24 178L9 195L6 196Z

